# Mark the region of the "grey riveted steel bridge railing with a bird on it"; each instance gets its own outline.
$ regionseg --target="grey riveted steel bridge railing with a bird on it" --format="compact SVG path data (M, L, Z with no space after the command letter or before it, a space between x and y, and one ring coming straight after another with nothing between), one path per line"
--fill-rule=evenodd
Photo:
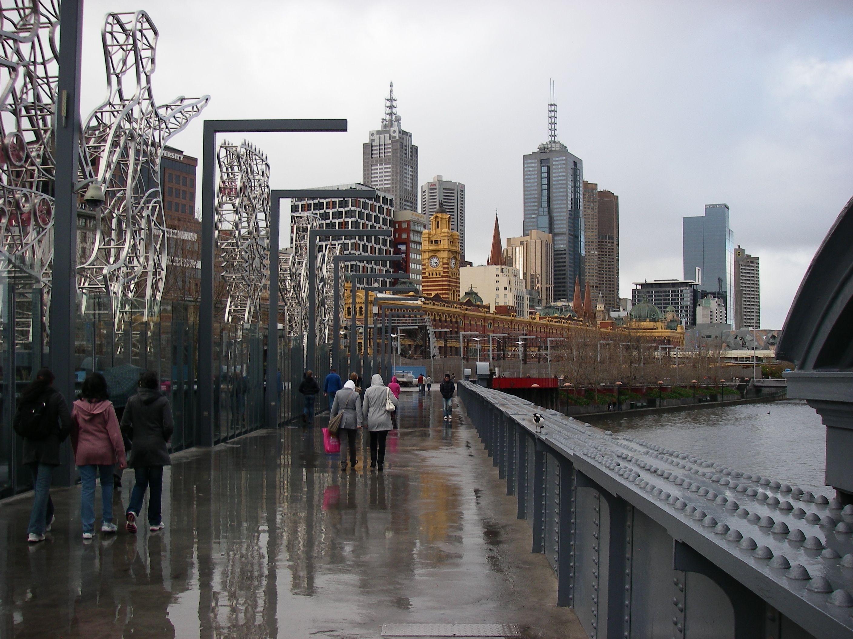
M853 506L457 389L592 639L853 636Z

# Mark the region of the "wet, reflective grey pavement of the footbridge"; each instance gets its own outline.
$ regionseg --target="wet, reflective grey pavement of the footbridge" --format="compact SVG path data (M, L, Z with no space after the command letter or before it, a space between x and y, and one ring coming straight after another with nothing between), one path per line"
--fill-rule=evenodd
M379 637L383 624L516 624L582 637L455 400L403 391L384 473L342 474L321 428L258 431L173 457L160 533L84 542L79 489L26 543L30 498L0 505L0 639ZM132 477L114 508L124 511ZM96 513L100 513L100 491ZM144 511L144 509L143 509Z

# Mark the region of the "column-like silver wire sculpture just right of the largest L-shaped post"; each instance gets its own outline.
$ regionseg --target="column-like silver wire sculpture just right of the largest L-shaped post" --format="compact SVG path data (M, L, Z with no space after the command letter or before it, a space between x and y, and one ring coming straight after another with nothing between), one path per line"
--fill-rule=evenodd
M270 164L247 141L219 145L217 244L228 290L225 321L259 322L270 273Z

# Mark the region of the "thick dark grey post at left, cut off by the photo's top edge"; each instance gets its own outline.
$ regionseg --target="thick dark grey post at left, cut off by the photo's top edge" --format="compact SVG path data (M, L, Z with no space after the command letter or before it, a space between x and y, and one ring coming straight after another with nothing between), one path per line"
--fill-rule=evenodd
M58 104L55 118L56 170L54 187L53 290L50 295L50 367L54 388L74 400L74 339L77 320L77 193L80 153L80 45L83 0L63 0L60 9ZM71 446L62 446L60 486L75 479Z

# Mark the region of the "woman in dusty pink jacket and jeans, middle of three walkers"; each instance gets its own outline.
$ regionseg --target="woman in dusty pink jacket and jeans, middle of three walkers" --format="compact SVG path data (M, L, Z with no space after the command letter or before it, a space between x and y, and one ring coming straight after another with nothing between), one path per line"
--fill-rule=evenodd
M115 533L118 528L113 523L113 464L118 463L120 471L127 463L119 420L108 398L107 380L101 373L91 372L71 412L71 445L83 487L80 519L84 539L91 539L95 532L97 475L101 475L101 532Z

